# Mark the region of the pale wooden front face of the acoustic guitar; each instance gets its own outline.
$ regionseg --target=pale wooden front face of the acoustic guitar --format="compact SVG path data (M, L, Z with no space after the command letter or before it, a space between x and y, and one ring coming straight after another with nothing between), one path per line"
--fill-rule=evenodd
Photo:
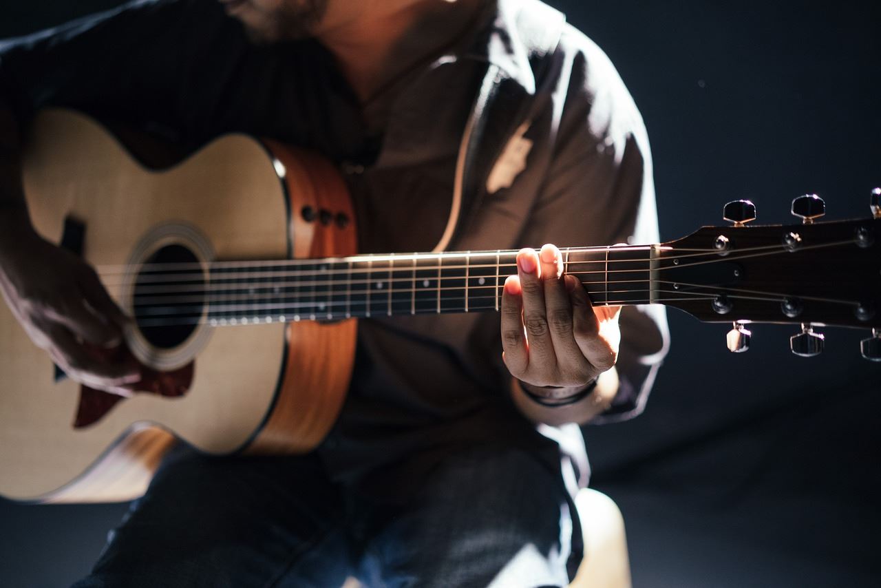
M176 167L152 173L88 117L47 111L33 123L24 179L37 230L57 242L65 216L85 220L84 256L96 266L128 264L134 242L169 220L204 234L216 259L288 255L285 186L253 138L220 138ZM106 281L130 309L121 283L118 274ZM115 472L119 482L95 499L137 496L149 480L141 473L167 446L157 441L163 435L144 441L144 428L166 429L211 453L240 450L267 421L276 398L286 326L213 329L196 356L187 394L137 394L92 426L75 429L78 384L54 380L48 355L0 304L0 495L81 501L89 499L82 488L101 488L107 472ZM150 449L124 449L132 443ZM135 473L126 473L132 467Z

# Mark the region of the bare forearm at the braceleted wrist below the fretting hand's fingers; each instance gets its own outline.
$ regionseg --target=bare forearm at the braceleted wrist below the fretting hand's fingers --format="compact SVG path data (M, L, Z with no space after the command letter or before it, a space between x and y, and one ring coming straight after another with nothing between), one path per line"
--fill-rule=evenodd
M585 398L578 402L565 406L543 406L533 399L529 398L523 389L537 394L542 394L541 388L530 386L528 383L522 383L516 378L511 378L511 398L521 413L530 421L541 422L547 425L563 425L569 422L585 424L596 415L603 413L611 404L615 394L618 392L618 371L611 368L604 371L596 378L596 387ZM577 394L578 388L571 390L559 390L559 396L570 396Z

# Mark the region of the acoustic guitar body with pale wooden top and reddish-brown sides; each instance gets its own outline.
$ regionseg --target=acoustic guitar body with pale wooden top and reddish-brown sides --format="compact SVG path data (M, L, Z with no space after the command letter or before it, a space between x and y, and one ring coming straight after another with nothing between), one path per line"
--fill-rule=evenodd
M137 276L127 268L161 259L152 257L160 251L185 249L198 264L355 252L353 222L300 213L353 219L344 182L314 155L230 135L151 171L93 120L60 110L41 113L31 138L25 185L34 227L52 242L69 241L76 227L90 264L121 268L102 280L129 313ZM342 405L355 334L355 319L196 324L158 344L133 327L127 342L155 377L116 401L56 376L0 304L0 495L128 500L143 493L174 437L214 454L311 450Z

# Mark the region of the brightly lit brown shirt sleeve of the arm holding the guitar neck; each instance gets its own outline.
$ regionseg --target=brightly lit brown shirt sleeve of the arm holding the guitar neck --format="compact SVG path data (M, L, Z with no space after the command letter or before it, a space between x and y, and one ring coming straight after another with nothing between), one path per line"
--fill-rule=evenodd
M602 50L571 27L562 43L566 61L552 98L560 112L556 145L525 242L656 243L652 160L639 111ZM620 388L591 423L639 414L669 346L663 307L627 306L620 326Z

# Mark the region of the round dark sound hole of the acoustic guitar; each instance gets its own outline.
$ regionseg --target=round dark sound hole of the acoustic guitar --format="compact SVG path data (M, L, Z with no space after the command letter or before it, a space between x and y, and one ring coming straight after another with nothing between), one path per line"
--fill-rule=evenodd
M205 294L205 274L198 262L186 247L167 245L149 257L137 273L135 321L153 346L174 348L196 331Z

